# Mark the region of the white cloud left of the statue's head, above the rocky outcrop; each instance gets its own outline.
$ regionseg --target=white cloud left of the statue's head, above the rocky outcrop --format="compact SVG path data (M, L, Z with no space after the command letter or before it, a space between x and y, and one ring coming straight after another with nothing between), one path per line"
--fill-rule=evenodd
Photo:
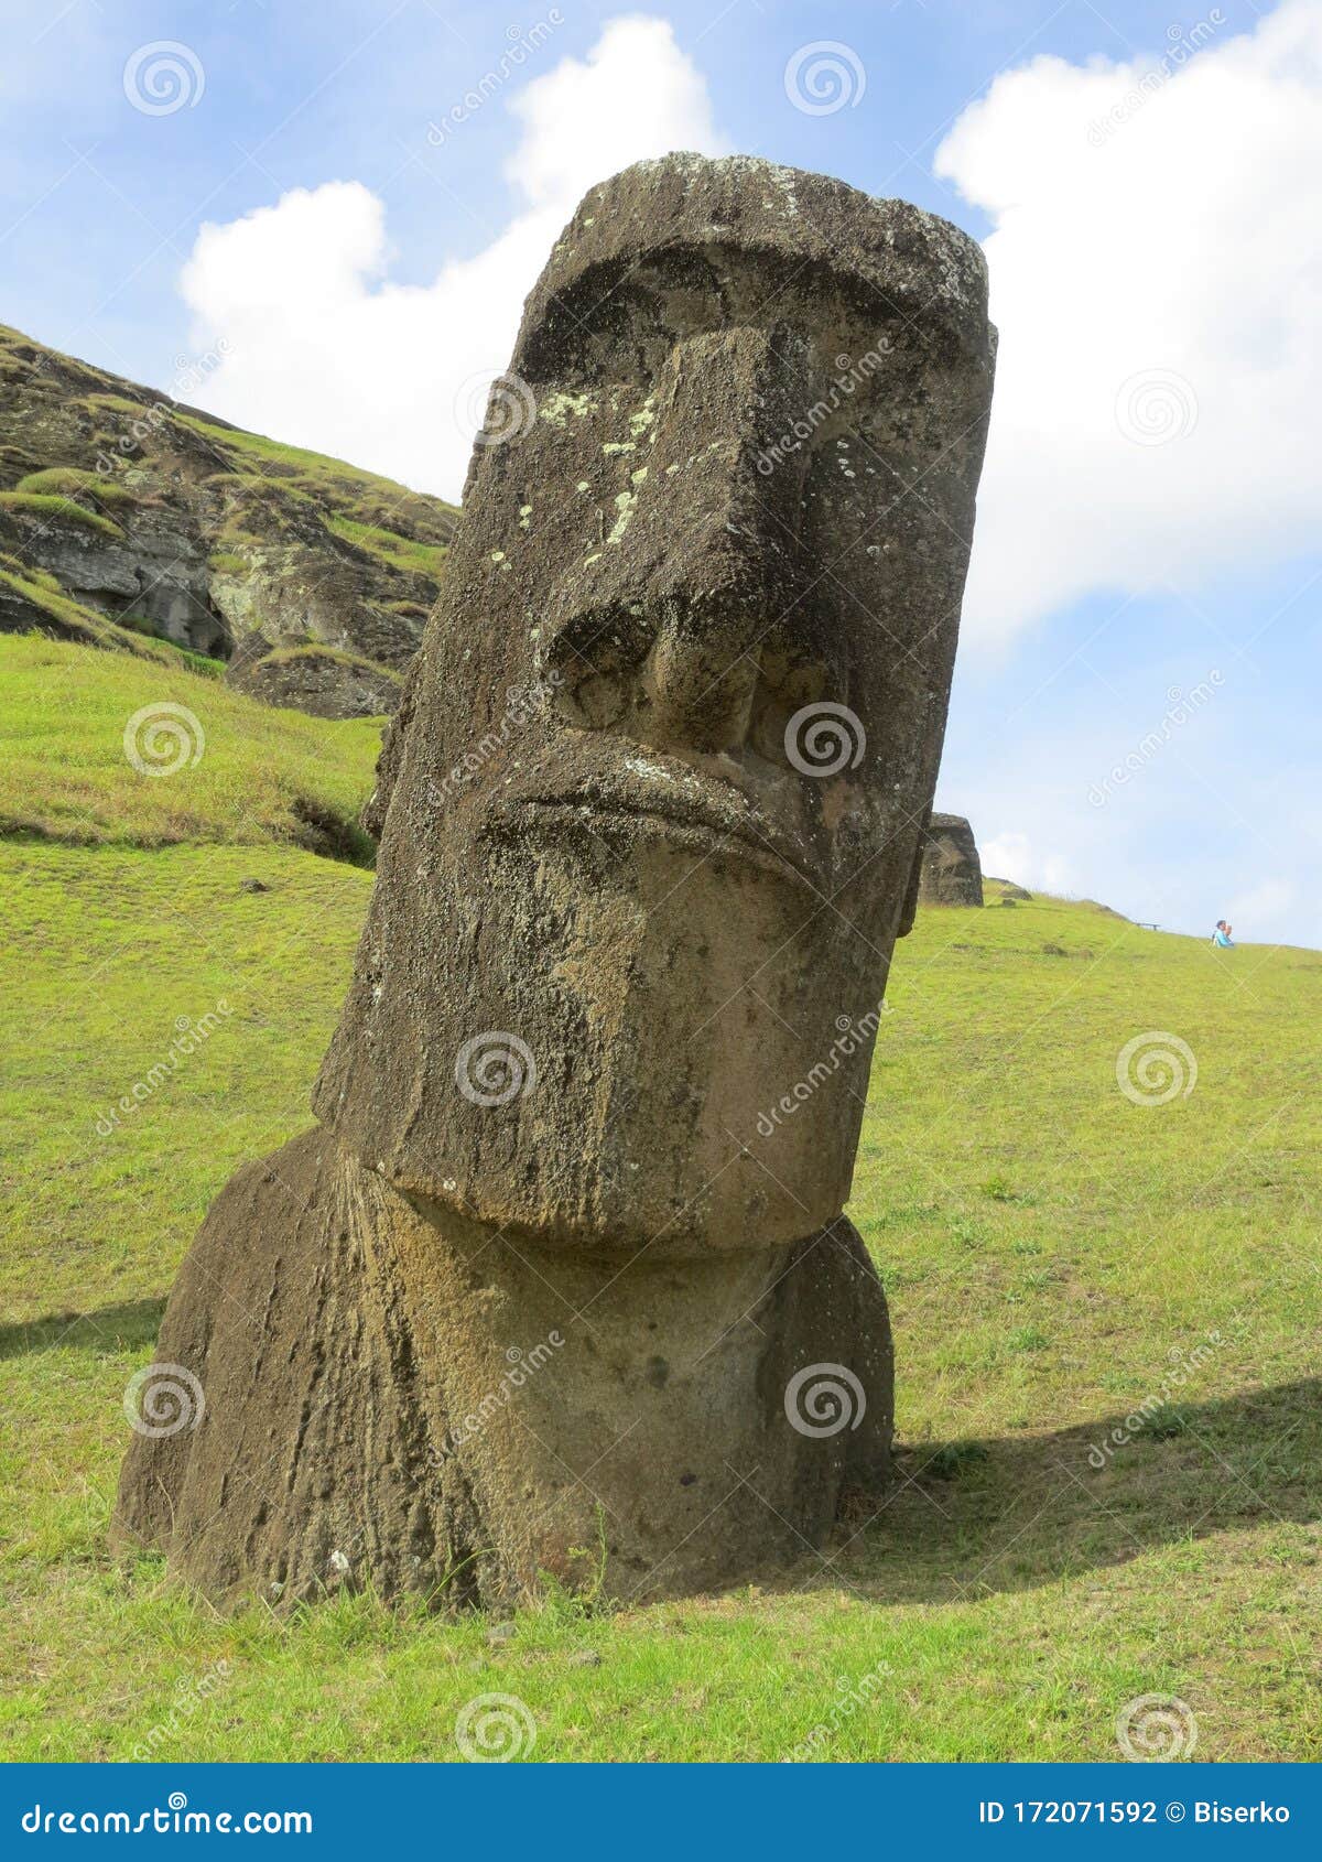
M726 147L702 74L659 19L611 20L587 60L523 82L508 108L521 210L430 285L389 281L385 210L359 181L203 225L181 279L197 352L225 341L203 404L458 497L486 400L475 378L508 363L523 298L587 188L644 156Z

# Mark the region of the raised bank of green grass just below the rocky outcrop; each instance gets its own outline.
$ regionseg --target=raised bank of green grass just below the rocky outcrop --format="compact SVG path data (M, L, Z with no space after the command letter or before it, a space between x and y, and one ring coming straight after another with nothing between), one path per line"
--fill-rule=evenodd
M125 734L151 763L162 706L177 709L158 754L179 767L151 775ZM0 832L130 847L277 840L371 858L356 817L380 724L276 711L199 678L177 650L147 661L0 637Z

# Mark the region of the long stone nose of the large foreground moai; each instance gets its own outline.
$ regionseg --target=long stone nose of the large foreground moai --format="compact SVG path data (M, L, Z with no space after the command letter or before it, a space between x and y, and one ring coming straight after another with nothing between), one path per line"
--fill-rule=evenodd
M806 356L791 331L704 331L674 346L633 547L587 616L594 631L566 629L564 711L575 724L678 754L752 741L765 657L784 659L806 585L806 452L769 449L808 400ZM641 587L631 581L639 564Z

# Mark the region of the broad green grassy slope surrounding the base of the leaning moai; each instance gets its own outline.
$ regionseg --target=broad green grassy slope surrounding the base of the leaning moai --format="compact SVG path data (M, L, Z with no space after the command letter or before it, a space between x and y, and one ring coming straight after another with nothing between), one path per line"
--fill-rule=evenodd
M84 693L65 762L104 767L130 696L93 728ZM229 713L199 715L210 756ZM352 741L294 722L307 771ZM54 741L30 804L58 823L65 782L89 778ZM235 749L244 793L255 762L264 743ZM220 789L196 803L207 845L156 849L80 793L93 845L0 845L22 1005L0 1268L7 1756L452 1758L458 1709L510 1693L538 1760L804 1741L827 1760L1108 1760L1138 1694L1192 1706L1199 1758L1322 1758L1320 953L1212 951L996 886L985 911L920 914L851 1205L892 1300L901 1478L830 1560L646 1611L551 1603L497 1635L371 1598L222 1622L156 1558L106 1555L121 1396L207 1201L309 1121L371 879L277 827L242 843ZM196 1052L114 1117L205 1015ZM1151 1032L1197 1065L1162 1104L1117 1084Z

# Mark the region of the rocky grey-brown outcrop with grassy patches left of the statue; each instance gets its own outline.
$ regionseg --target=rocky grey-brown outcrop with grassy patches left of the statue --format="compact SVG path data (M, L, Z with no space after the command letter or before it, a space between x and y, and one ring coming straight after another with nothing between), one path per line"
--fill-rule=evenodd
M346 657L318 704L356 715L354 663L400 672L417 650L454 516L0 326L0 557L54 577L76 637L119 644L101 616L225 661L324 646ZM9 588L0 627L30 624Z

